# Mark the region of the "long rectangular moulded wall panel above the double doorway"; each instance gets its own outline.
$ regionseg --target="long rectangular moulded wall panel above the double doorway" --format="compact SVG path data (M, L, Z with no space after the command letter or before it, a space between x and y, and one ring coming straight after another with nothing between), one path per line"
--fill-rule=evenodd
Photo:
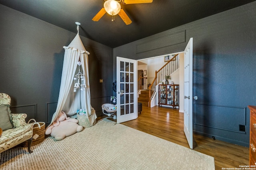
M137 54L186 42L186 30L137 45Z

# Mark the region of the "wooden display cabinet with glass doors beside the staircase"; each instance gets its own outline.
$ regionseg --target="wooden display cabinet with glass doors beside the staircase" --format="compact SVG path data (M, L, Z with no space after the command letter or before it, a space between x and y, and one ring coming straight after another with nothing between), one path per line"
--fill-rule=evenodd
M158 86L158 106L179 107L179 84L160 84Z

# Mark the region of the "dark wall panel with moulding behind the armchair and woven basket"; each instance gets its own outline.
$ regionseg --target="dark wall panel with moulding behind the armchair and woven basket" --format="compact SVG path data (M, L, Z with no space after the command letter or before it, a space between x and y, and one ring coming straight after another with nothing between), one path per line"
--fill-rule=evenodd
M30 119L37 118L37 104L19 105L10 107L12 113L26 113L28 122Z

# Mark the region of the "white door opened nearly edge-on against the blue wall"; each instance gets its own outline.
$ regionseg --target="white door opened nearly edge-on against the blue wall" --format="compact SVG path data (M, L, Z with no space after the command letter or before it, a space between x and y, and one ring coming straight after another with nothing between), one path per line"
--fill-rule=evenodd
M184 50L184 133L190 149L193 149L193 38Z

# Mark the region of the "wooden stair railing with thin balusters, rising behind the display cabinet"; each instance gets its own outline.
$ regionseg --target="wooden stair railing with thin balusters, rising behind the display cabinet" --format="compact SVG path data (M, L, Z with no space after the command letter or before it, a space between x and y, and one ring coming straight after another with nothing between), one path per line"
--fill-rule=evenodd
M149 93L149 107L151 105L151 96L154 91L156 91L156 85L161 81L165 80L165 76L172 74L175 70L180 67L180 60L178 54L174 55L170 61L168 61L162 68L155 72L155 78L148 87Z

